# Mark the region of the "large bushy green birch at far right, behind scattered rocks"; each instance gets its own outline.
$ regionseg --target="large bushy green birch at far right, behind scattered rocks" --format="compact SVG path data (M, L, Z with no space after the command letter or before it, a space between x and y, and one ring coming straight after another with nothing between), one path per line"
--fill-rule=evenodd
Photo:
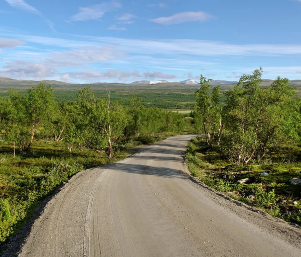
M226 92L222 146L234 163L260 162L269 145L298 140L300 113L294 88L279 77L270 86L260 87L261 76L261 68L243 75Z

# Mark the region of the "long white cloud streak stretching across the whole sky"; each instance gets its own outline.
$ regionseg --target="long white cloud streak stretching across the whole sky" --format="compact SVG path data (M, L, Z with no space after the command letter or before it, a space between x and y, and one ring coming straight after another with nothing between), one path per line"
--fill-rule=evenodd
M117 26L116 26L117 27ZM93 37L69 35L84 40L41 37L28 34L0 31L4 37L14 37L28 43L36 43L62 48L81 48L88 46L112 45L130 54L162 54L175 57L193 56L277 56L301 54L301 44L229 44L221 41L193 39L139 40L116 37Z

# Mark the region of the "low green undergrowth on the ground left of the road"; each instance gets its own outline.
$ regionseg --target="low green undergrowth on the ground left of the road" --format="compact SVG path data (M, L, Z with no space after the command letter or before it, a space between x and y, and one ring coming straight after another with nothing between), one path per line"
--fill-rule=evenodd
M109 163L90 150L69 153L61 144L35 146L13 159L11 147L0 148L0 242L14 234L39 202L78 171ZM118 153L113 161L127 156Z

